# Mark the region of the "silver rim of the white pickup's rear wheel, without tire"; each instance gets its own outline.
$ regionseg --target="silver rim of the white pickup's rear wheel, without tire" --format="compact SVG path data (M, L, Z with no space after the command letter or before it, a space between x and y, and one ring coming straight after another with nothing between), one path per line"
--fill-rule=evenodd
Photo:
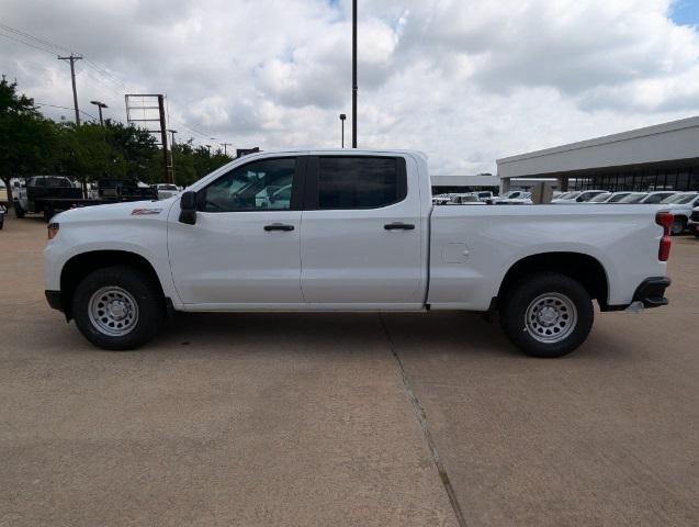
M527 332L544 344L560 343L577 324L575 304L565 294L543 293L531 301L525 315Z

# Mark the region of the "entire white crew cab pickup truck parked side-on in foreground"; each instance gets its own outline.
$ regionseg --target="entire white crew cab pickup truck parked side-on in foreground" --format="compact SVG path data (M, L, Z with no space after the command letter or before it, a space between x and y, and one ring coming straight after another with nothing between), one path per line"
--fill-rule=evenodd
M559 357L593 300L667 303L670 226L647 205L433 206L416 152L262 153L180 197L55 216L46 298L106 349L143 345L169 310L458 310Z

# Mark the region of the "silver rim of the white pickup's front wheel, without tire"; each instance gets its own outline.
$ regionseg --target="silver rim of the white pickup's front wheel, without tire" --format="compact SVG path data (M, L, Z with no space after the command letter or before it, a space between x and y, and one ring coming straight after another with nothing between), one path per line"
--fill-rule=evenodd
M123 337L138 322L138 304L128 291L108 285L92 294L88 314L92 326L100 333Z

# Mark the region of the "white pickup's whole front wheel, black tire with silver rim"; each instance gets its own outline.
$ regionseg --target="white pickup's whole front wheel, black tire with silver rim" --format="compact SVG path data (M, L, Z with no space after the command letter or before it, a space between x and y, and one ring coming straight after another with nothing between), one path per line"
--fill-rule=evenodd
M138 269L114 266L88 274L76 289L72 315L84 338L111 350L150 340L165 319L157 284Z

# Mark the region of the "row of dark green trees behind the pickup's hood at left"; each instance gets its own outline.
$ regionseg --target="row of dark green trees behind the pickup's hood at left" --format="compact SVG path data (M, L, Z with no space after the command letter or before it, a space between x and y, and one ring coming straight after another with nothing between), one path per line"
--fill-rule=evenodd
M222 150L193 146L171 148L174 180L188 186L230 161ZM10 179L59 175L87 183L100 178L165 182L164 156L147 131L112 120L99 123L56 122L34 100L18 92L16 82L0 80L0 179L12 200Z

